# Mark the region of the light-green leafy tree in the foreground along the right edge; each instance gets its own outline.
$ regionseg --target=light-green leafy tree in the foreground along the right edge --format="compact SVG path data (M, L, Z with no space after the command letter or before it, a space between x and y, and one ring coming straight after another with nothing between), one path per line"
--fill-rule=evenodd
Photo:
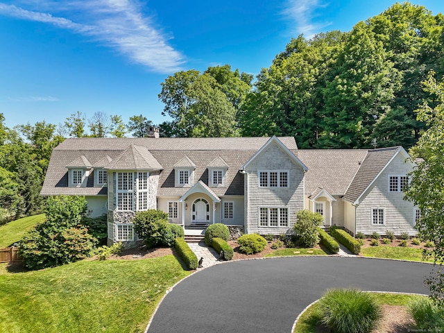
M410 153L418 165L411 174L410 182L404 196L413 201L421 212L416 229L420 239L433 241L434 262L440 269L432 275L426 284L429 286L432 298L441 307L444 306L444 80L437 82L431 71L423 82L426 92L433 97L425 101L417 110L418 120L425 122L425 130L416 146Z

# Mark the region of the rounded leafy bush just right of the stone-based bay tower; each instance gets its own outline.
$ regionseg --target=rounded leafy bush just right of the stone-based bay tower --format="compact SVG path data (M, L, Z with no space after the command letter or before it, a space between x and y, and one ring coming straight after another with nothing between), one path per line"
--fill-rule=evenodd
M168 214L162 210L137 212L133 218L134 230L144 239L148 248L162 244L168 228Z

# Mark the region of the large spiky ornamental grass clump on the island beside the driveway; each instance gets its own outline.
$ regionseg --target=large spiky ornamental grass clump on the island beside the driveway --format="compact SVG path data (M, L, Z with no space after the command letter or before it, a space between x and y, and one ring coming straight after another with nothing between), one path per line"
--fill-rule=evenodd
M369 333L382 318L381 307L370 293L332 289L321 298L322 323L332 332Z

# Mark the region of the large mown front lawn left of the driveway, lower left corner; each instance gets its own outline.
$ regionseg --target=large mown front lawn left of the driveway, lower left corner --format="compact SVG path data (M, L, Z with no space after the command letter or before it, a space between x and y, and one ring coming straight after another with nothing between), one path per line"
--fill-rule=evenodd
M0 264L0 332L144 332L165 291L187 275L173 255L25 273Z

